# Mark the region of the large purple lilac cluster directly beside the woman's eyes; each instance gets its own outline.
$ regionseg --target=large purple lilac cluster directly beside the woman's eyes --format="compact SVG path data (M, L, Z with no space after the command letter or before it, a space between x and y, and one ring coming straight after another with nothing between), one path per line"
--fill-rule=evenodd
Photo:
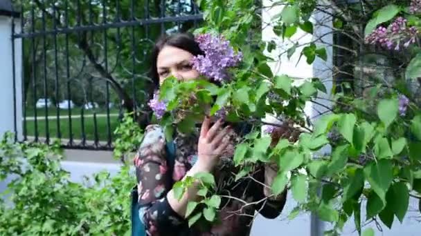
M240 63L242 53L235 53L229 45L229 41L226 41L223 37L204 34L197 36L196 41L204 55L198 55L192 59L193 68L215 81L229 79L226 70Z

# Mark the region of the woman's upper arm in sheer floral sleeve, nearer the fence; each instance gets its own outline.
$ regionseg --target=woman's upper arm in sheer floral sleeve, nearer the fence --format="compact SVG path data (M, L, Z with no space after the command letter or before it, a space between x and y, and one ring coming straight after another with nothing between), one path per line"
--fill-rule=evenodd
M172 210L165 195L172 188L166 161L165 135L159 126L147 126L134 165L138 181L139 217L147 235L170 235L183 218Z

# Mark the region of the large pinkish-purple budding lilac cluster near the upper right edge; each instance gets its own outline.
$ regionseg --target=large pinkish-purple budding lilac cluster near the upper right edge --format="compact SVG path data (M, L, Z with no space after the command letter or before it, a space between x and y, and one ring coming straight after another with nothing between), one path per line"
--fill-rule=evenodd
M389 50L400 50L401 46L407 48L411 43L415 43L418 30L414 26L406 26L406 19L397 17L388 28L379 26L366 37L366 43L379 44Z

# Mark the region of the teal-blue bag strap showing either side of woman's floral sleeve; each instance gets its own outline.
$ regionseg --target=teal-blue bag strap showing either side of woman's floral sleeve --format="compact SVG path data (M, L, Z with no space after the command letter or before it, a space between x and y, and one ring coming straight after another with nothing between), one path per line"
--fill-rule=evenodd
M172 176L172 170L174 169L175 162L175 144L174 141L168 141L165 145L167 149L167 162L170 170L170 176ZM137 186L132 189L132 236L145 236L145 225L139 217L139 206L138 206L138 193Z

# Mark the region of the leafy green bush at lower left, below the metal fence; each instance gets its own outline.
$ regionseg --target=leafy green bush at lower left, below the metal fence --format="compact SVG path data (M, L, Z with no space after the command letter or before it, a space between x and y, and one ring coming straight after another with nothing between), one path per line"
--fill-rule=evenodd
M0 151L0 181L14 178L0 201L1 235L130 235L129 193L136 181L129 166L78 184L60 166L60 142L15 144L8 134Z

